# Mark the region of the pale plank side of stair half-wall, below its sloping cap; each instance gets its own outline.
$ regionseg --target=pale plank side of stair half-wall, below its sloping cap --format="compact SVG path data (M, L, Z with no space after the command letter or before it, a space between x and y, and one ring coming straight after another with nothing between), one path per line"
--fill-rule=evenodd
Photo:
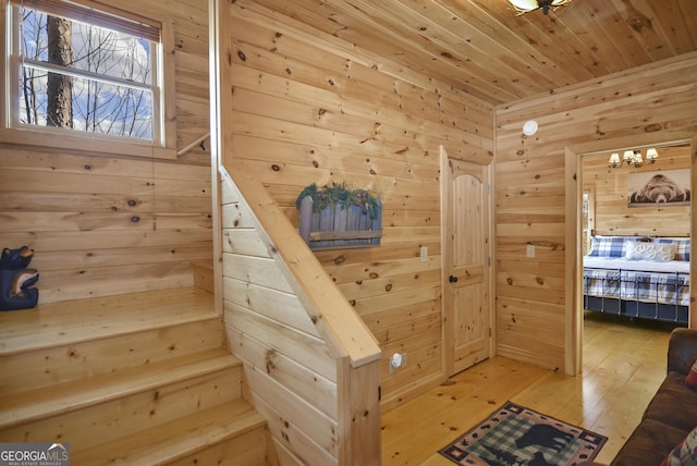
M221 196L225 335L245 365L245 397L268 420L281 464L335 465L335 363L244 198L224 182Z

